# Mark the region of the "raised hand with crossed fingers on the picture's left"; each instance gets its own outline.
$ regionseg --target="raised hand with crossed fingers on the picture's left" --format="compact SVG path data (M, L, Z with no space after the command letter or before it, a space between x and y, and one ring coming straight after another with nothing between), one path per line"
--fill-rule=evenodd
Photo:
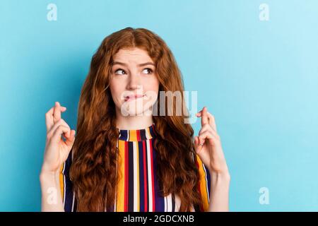
M45 114L47 125L47 141L42 165L42 173L57 173L61 165L66 161L75 141L75 130L61 119L61 112L66 107L61 107L59 102ZM64 139L61 136L64 136Z

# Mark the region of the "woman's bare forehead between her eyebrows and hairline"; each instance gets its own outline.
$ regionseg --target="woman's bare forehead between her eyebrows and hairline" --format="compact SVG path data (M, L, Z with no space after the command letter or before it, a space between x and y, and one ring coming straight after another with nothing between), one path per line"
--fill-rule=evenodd
M133 48L133 49L119 49L119 51L114 54L114 61L120 61L123 63L136 63L141 64L145 62L153 62L148 52L143 49Z

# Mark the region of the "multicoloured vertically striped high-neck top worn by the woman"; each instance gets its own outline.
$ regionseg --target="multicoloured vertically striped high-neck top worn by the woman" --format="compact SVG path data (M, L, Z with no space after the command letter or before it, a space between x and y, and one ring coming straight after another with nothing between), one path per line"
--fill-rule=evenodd
M146 129L119 130L117 147L117 189L114 207L108 211L115 212L177 212L180 207L179 196L170 194L160 196L157 179L155 124ZM61 196L66 212L76 212L76 198L69 178L71 153L61 166L59 182ZM199 167L199 191L203 201L199 211L207 211L211 179L208 169L196 155L196 166ZM107 210L105 210L107 211ZM194 207L192 206L192 211Z

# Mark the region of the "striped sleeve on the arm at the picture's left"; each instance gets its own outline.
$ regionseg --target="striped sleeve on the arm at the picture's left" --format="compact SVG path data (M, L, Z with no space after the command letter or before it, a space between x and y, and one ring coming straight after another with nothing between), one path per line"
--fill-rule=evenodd
M70 152L69 157L67 157L67 160L63 165L61 165L61 169L59 171L59 184L65 212L76 212L76 198L73 193L73 184L69 177L71 162L72 153Z

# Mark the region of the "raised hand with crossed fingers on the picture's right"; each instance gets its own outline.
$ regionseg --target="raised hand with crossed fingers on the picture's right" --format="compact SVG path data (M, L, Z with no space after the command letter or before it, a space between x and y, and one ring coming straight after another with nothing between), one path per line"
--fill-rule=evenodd
M194 148L201 161L208 167L209 172L229 176L228 166L220 142L220 136L216 132L216 121L208 109L204 107L196 113L201 117L201 129L199 136L194 138Z

